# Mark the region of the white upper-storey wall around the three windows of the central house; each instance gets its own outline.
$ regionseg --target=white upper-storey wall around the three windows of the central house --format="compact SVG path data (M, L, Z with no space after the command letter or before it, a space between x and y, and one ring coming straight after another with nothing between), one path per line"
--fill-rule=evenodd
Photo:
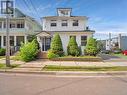
M52 19L56 20L56 19ZM87 21L85 19L68 19L68 26L61 26L62 20L67 20L67 19L58 19L56 21L57 26L56 27L51 27L50 19L43 19L43 30L44 31L83 31L86 29L86 23ZM78 20L79 25L78 26L73 26L73 20Z

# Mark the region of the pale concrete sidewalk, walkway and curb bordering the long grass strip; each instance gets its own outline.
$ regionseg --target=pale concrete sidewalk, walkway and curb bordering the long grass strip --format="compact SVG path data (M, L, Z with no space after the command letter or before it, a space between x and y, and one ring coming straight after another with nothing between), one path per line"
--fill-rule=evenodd
M0 63L5 64L5 59L0 59ZM51 74L51 75L105 75L105 74L127 74L127 72L45 72L42 71L45 65L58 65L58 66L127 66L127 62L74 62L74 61L50 61L45 59L38 59L31 62L21 62L11 60L11 64L20 64L19 67L14 69L0 70L0 72L9 73L36 73L36 74Z

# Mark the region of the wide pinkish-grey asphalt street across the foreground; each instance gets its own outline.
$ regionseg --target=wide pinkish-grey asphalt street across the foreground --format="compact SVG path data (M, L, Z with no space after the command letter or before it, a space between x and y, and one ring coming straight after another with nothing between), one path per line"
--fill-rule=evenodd
M0 95L127 95L127 76L0 73Z

